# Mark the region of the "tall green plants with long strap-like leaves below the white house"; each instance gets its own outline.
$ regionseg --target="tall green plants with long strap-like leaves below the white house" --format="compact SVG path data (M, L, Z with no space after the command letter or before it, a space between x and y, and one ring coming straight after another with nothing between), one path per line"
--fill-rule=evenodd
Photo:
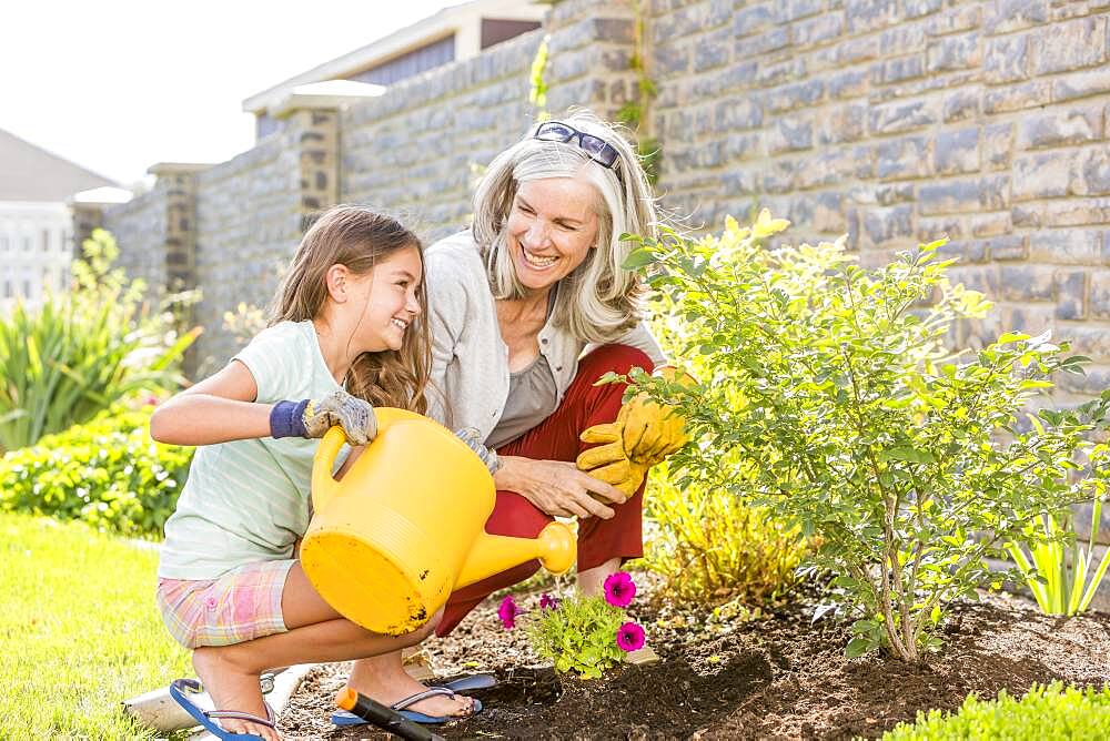
M95 230L69 294L0 317L0 450L88 422L137 389L179 386L178 363L200 329L179 335L172 312L151 311L142 282L112 268L118 255Z

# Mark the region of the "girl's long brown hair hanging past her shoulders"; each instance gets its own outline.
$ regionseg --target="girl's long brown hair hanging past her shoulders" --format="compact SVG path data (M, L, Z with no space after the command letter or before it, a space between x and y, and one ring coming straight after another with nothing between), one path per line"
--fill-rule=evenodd
M330 209L301 240L293 264L274 296L270 326L286 319L314 318L327 298L325 275L332 265L345 265L355 275L366 275L379 261L405 247L416 247L423 272L423 245L395 219L363 206ZM432 337L423 281L417 286L416 298L421 312L410 323L401 349L359 355L344 379L350 394L374 406L425 412L424 390L432 366Z

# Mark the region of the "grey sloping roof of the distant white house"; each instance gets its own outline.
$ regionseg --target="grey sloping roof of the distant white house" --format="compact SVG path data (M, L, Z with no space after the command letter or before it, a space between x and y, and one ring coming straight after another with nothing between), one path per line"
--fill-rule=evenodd
M118 183L0 129L0 201L65 202Z

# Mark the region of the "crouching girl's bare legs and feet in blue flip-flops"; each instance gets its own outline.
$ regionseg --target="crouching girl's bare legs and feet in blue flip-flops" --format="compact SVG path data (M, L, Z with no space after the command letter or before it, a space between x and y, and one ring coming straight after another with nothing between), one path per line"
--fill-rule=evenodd
M373 692L365 692L364 689L371 689L370 682L362 680L360 676L360 680L367 684L355 686L355 689L379 702L389 703L421 691L423 686L401 670L401 649L414 646L431 635L438 616L418 630L404 636L372 633L335 612L309 583L300 564L290 569L285 580L282 613L287 632L234 646L202 647L193 651L193 667L218 709L239 710L264 718L265 708L259 688L259 674L262 671L296 663L347 661L380 654L386 654L383 658L392 657L381 666L389 668L395 661L404 679L387 673L385 679L376 681ZM364 671L377 666L366 664ZM465 715L471 711L471 706L470 698L436 697L417 702L413 710L434 715ZM275 731L249 721L226 719L221 724L229 731L258 733L271 741L280 738Z

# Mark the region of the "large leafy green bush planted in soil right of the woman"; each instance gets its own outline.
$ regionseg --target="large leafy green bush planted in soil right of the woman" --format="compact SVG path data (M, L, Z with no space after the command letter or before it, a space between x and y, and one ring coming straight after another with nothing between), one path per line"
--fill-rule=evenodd
M917 660L939 644L948 602L1001 581L986 562L1001 544L1038 514L1106 495L1108 446L1084 435L1110 394L1029 415L1022 430L1049 377L1086 358L1017 333L949 353L952 324L990 304L949 283L941 242L867 271L842 240L766 248L788 223L764 211L750 227L727 220L720 237L630 237L640 246L626 266L649 266L690 327L680 356L712 373L684 386L634 372L628 393L676 404L699 440L673 458L676 486L754 490L818 536L814 565L836 575L826 608L856 618L849 656L888 646Z

